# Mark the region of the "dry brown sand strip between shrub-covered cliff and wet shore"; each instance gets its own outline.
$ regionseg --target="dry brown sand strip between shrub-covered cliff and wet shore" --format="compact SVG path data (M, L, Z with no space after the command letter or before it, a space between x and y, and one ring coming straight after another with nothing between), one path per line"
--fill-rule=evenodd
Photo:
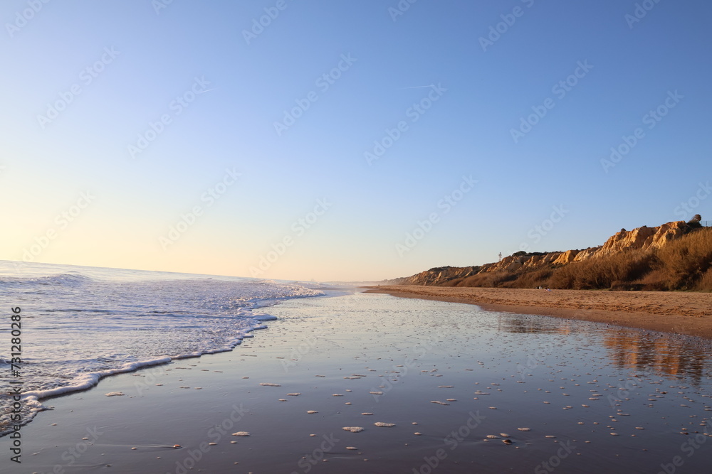
M712 293L580 291L441 286L369 286L368 293L469 303L489 311L538 314L712 339Z

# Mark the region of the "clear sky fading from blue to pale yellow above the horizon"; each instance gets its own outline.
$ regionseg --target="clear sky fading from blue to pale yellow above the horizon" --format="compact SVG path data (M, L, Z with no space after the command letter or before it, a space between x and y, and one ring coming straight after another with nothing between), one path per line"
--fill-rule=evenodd
M4 0L0 259L365 281L712 219L703 0Z

